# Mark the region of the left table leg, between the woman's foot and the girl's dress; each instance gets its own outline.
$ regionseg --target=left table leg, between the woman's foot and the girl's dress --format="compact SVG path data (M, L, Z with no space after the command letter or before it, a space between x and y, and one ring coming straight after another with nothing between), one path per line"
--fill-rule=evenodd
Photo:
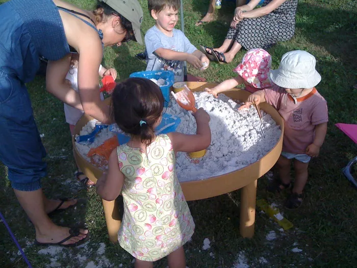
M106 217L109 240L117 243L118 231L121 224L118 201L106 201L102 199L101 202L103 203L104 215Z

